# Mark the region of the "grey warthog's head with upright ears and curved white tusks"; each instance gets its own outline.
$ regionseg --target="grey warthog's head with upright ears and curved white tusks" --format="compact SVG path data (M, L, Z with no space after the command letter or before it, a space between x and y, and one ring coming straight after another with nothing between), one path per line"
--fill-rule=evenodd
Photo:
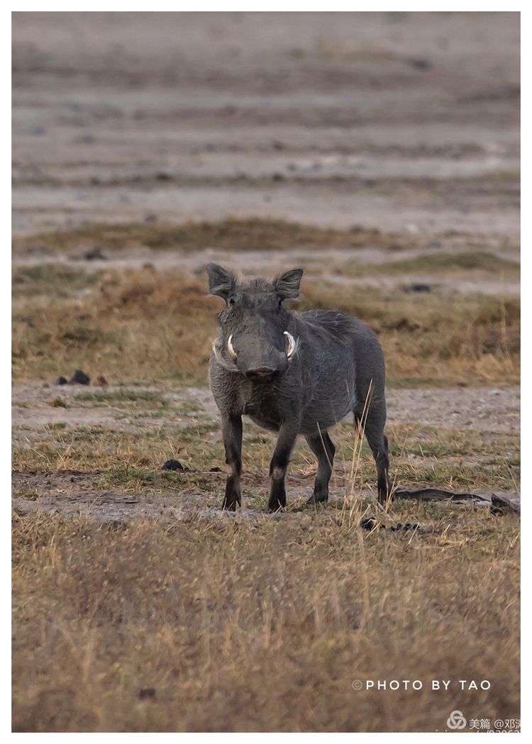
M221 333L213 344L219 364L254 382L269 382L286 372L298 340L289 333L290 315L283 300L298 296L303 270L292 269L273 282L246 283L237 283L215 263L207 271L209 292L225 300L218 315Z

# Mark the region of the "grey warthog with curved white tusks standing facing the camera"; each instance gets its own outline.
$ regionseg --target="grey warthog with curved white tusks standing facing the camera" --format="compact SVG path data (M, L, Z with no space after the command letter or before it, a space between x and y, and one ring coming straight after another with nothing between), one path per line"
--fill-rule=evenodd
M350 411L364 427L376 462L379 501L385 504L390 494L385 366L373 331L333 310L286 310L283 301L299 295L302 269L273 282L245 283L214 263L207 270L210 294L225 300L209 362L228 472L222 509L240 504L243 414L279 432L269 466L270 510L286 506L284 479L298 434L318 458L309 503L327 501L335 453L327 430Z

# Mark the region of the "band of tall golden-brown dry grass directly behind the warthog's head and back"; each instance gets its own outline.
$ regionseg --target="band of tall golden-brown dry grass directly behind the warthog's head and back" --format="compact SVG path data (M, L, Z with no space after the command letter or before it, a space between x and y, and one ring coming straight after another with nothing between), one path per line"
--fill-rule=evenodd
M153 268L65 279L65 269L15 273L13 376L83 368L111 382L205 384L219 300L205 281ZM82 272L83 275L83 272ZM65 298L65 283L70 282ZM55 292L55 287L63 287ZM80 291L80 289L82 291ZM299 307L357 315L379 333L394 385L504 384L519 379L519 301L485 295L367 292L309 277Z

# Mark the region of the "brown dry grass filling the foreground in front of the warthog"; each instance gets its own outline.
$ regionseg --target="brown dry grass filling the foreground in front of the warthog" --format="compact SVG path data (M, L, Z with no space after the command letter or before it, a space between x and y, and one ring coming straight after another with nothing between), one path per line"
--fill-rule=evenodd
M15 731L437 731L519 718L512 518L398 506L94 525L16 517ZM355 679L420 679L356 692ZM452 680L449 692L432 679ZM492 681L469 692L460 679Z

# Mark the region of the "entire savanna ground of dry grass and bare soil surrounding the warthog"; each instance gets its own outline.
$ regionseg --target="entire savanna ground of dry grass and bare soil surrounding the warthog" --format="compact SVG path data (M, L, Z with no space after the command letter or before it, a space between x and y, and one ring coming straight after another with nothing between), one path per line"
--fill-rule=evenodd
M384 513L349 422L327 506L305 506L300 443L289 507L266 512L274 440L249 424L243 508L219 511L202 273L304 266L298 309L379 334L395 484L519 496L518 17L26 13L13 31L14 730L519 719L518 517ZM91 385L54 384L76 368Z

